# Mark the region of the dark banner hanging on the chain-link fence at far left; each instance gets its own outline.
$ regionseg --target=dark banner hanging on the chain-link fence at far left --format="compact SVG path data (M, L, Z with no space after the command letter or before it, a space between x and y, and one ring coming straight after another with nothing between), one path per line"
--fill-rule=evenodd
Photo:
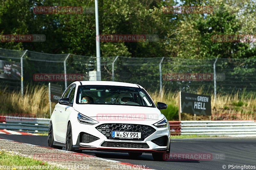
M0 78L20 80L20 63L0 60Z

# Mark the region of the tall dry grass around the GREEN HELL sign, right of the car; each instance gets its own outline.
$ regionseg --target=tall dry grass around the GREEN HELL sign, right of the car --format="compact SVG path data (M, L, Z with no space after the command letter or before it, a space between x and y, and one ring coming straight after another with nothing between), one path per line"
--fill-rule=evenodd
M159 93L151 93L151 97L155 103L164 102L168 105L166 110L161 112L168 120L178 120L179 93L163 92L163 96ZM198 94L203 94L202 89L198 90ZM237 92L234 95L218 94L216 101L211 95L212 116L211 120L256 120L256 93ZM192 114L181 114L182 120L194 120ZM209 120L209 116L197 115L197 120Z

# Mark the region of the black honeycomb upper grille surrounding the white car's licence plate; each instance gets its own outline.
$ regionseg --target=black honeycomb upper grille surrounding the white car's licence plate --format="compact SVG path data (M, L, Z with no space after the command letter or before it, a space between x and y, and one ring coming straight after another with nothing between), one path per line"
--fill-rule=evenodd
M123 129L123 125L130 125L131 129ZM96 127L97 130L99 130L103 135L105 135L108 139L116 139L111 136L112 131L126 131L126 132L141 132L141 138L140 139L122 139L122 140L144 140L149 135L153 134L156 129L154 129L151 126L148 125L139 125L139 124L123 124L123 123L107 123L102 124L100 126ZM120 139L117 139L120 140Z

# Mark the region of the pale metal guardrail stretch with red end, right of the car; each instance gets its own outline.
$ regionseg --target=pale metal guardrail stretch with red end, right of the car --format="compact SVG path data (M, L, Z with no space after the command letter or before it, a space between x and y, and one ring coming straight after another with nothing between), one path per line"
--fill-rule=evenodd
M256 121L169 121L171 135L256 136Z

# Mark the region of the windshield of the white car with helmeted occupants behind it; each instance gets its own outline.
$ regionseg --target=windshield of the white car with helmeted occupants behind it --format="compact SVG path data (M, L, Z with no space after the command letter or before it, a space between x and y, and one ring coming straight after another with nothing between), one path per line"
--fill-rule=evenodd
M76 103L155 107L141 88L106 85L79 86Z

